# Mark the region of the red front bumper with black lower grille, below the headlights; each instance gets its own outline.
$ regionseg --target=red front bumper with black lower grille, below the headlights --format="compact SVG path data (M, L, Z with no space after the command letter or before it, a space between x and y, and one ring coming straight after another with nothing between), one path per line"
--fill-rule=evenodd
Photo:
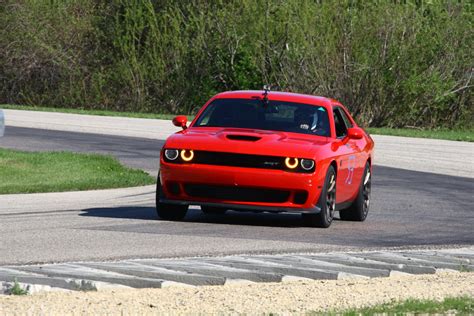
M317 168L313 174L302 174L282 170L172 164L162 160L160 202L217 206L232 210L319 213L317 202L324 181L319 174ZM220 190L209 192L206 196L205 190L190 189L196 186L225 188L224 195L219 195ZM243 191L245 196L234 198L229 193L234 191ZM259 192L264 193L259 196ZM270 196L271 192L276 193Z

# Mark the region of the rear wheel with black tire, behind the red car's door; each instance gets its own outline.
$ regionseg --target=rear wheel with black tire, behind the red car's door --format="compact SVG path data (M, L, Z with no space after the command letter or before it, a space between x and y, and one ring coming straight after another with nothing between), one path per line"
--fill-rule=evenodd
M357 197L348 208L339 211L342 220L363 222L367 218L370 206L370 191L372 187L372 172L370 165L365 164L364 176L360 181Z

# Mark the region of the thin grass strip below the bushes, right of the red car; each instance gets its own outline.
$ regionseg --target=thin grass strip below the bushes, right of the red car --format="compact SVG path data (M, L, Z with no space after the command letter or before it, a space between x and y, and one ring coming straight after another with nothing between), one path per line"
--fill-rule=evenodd
M466 129L466 130L447 130L447 129L418 130L418 129L409 129L409 128L369 127L367 128L367 131L371 134L378 134L378 135L435 138L435 139L474 142L474 129L470 129L470 130L469 129Z

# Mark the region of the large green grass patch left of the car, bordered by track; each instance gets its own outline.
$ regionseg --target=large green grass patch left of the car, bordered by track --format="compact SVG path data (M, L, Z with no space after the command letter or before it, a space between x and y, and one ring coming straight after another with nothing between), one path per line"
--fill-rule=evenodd
M0 149L0 194L133 187L155 180L115 158L71 152Z

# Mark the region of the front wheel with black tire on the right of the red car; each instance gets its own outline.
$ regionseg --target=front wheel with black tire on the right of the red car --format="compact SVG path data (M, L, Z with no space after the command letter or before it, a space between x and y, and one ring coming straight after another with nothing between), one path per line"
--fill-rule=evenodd
M334 171L333 166L329 166L326 173L319 205L321 212L318 214L303 214L303 220L312 227L328 228L331 226L336 211L336 171Z

